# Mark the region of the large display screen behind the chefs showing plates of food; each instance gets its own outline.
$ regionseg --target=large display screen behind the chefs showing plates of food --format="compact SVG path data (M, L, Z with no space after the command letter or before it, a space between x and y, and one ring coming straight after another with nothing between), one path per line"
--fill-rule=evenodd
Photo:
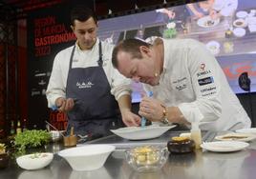
M224 70L235 93L239 76L248 73L256 91L256 1L215 0L150 10L99 21L101 40L117 44L127 38L193 38L205 44ZM140 101L141 84L133 84L133 102Z

